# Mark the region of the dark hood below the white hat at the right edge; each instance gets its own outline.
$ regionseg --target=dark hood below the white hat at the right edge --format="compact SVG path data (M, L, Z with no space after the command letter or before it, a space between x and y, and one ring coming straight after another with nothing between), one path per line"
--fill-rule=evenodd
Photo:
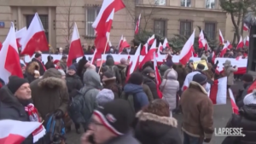
M256 105L243 106L240 113L245 118L256 121Z

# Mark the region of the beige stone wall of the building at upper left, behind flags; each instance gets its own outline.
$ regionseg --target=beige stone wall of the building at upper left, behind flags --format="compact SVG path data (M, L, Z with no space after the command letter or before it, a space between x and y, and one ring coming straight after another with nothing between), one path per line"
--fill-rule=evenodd
M17 29L26 26L26 14L48 14L49 19L49 44L55 49L67 45L67 33L76 22L81 43L84 46L93 45L94 37L86 37L86 8L101 7L102 0L1 0L0 21L5 23L0 28L0 41L3 42L9 32L10 22L14 21ZM115 13L110 40L113 45L119 43L122 34L128 42L134 37L135 28L135 3L125 0L126 8ZM70 15L70 20L67 20Z

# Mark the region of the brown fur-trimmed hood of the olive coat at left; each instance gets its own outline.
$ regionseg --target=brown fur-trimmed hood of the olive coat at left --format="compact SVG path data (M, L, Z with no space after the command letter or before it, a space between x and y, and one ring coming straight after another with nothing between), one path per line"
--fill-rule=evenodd
M66 82L61 79L61 72L56 70L55 68L49 68L46 72L44 72L44 76L42 79L38 79L39 87L47 87L49 89L54 88L66 88Z

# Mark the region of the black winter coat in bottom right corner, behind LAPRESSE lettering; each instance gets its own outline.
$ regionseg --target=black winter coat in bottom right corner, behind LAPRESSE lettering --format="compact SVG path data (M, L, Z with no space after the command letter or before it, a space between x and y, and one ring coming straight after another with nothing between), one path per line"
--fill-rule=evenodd
M242 128L245 136L228 136L222 144L256 144L256 105L243 106L239 115L232 114L227 128Z

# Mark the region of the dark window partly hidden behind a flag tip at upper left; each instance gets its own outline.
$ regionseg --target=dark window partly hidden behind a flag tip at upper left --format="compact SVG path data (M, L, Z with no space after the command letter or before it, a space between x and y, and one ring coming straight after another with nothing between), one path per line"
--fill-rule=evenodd
M32 22L34 16L35 16L34 14L33 15L26 15L26 27L30 26L30 23ZM40 15L39 14L39 18L42 22L42 25L44 26L44 33L45 33L45 36L47 38L47 42L49 42L48 15Z

